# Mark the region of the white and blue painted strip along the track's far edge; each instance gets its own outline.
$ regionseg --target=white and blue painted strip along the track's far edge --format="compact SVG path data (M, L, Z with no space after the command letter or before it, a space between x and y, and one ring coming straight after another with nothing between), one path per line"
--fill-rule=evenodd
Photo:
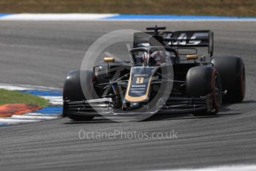
M157 16L157 15L156 15ZM146 17L146 18L145 18ZM151 17L151 18L150 18ZM144 16L144 15L132 15L126 16L118 13L13 13L6 16L1 16L0 21L103 21L103 22L256 22L255 17L230 17L221 18L214 16L206 16L206 19L198 16Z

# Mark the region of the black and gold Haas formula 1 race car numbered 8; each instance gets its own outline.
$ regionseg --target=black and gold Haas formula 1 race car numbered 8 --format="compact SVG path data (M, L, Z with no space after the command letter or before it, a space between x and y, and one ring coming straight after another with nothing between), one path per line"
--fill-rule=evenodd
M63 88L63 117L92 120L108 114L188 112L217 114L223 101L241 102L246 91L240 57L213 57L211 30L134 33L131 60L104 57L91 71L70 71ZM199 56L199 49L207 53ZM83 90L81 74L91 83ZM90 96L86 96L86 93ZM95 93L93 93L94 91Z

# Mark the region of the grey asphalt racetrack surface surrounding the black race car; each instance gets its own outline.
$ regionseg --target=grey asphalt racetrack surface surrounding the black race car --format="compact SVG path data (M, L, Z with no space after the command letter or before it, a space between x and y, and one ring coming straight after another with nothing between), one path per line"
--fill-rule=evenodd
M1 83L61 88L80 68L86 50L111 30L214 30L215 55L246 64L246 98L217 117L170 114L150 121L113 123L67 118L0 128L0 170L159 170L256 164L256 22L1 22ZM83 139L78 132L177 132L173 140Z

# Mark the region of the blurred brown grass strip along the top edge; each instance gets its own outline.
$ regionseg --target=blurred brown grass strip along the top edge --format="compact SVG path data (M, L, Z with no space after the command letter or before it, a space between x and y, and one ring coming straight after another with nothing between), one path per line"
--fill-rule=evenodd
M0 0L0 13L256 16L255 0Z

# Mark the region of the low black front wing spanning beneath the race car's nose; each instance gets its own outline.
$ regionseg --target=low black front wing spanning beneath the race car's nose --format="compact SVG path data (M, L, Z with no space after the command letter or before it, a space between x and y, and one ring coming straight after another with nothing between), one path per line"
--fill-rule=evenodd
M197 111L212 112L212 96L207 94L205 97L170 97L159 109L152 113L171 114L171 113L193 113ZM86 116L101 115L132 115L144 114L146 112L121 111L114 108L112 98L100 98L95 100L83 101L64 101L63 117L67 114L78 114ZM147 112L149 114L149 112Z

